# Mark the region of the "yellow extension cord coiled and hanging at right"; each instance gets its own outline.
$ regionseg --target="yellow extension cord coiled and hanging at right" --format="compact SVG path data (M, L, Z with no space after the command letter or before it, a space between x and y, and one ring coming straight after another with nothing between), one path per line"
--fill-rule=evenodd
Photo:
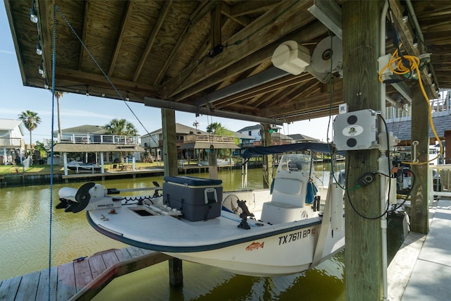
M401 44L400 44L401 47ZM435 156L435 158L426 161L426 162L419 162L419 163L414 163L414 162L401 162L404 164L411 164L411 165L422 165L422 164L428 164L429 162L437 159L439 156L441 156L443 154L443 145L442 145L442 141L440 140L440 138L437 135L437 132L435 132L435 128L434 128L434 123L432 120L432 108L431 108L431 103L429 102L428 96L426 95L426 91L424 90L423 87L423 82L421 81L421 75L420 75L420 70L418 68L419 63L420 63L420 59L416 56L403 56L404 59L406 59L407 61L410 62L410 64L414 67L414 70L416 70L416 74L418 75L418 82L420 84L420 88L421 88L421 92L423 92L423 96L424 99L426 100L427 104L428 104L428 115L429 115L429 123L431 123L431 130L434 134L435 140L438 141L438 144L440 145L440 152L438 153L437 156ZM396 68L393 68L392 65L393 63L395 63ZM383 71L386 68L390 68L390 70L397 75L405 75L407 73L411 72L411 69L407 68L406 66L404 66L404 64L402 63L402 57L398 55L398 51L397 49L395 50L395 52L393 52L393 55L390 58L390 61L388 61L387 65L385 65L381 72L379 73L379 81L383 82L382 79L382 74Z

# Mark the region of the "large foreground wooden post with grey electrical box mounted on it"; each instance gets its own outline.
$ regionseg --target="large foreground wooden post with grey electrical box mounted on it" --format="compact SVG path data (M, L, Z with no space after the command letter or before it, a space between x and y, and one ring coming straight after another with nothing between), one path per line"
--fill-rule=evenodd
M381 110L377 59L382 4L360 0L342 6L343 100L350 111ZM378 171L378 156L378 149L346 152L346 300L381 300L383 295L381 221L362 217L381 215L380 179L352 190L365 173Z

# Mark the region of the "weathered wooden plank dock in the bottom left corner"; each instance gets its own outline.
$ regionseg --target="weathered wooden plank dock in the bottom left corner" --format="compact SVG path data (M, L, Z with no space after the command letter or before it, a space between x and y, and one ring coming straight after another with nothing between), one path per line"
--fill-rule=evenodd
M172 257L138 247L109 250L81 261L0 281L0 300L91 300L118 276Z

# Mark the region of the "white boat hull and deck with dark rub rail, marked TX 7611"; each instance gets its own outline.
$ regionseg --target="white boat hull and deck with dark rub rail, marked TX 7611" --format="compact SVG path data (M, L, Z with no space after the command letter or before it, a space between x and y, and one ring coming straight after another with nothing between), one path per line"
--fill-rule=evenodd
M87 211L87 218L115 240L248 276L283 276L312 267L322 219L263 226L248 219L251 229L244 230L237 227L240 217L226 211L216 219L192 222L173 216L138 218L135 212L144 207L123 206L116 214L109 214L110 209ZM344 231L328 232L320 262L345 245Z

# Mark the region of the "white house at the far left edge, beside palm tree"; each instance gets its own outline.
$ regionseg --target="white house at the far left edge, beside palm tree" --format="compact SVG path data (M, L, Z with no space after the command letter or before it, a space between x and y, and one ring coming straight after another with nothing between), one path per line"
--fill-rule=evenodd
M25 127L22 121L15 119L0 119L0 164L22 164L25 152L23 135Z

